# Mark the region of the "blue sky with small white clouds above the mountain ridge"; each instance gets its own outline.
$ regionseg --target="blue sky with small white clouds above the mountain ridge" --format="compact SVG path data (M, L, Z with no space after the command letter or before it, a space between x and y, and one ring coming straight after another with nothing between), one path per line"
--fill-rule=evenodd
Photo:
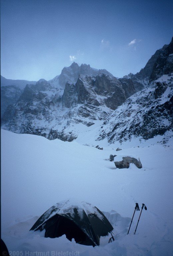
M173 36L173 1L0 0L1 75L50 80L73 61L137 73Z

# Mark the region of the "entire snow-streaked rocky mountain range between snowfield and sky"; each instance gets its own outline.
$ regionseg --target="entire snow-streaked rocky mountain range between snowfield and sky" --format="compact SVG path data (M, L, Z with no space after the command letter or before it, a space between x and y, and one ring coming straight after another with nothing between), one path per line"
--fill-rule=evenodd
M97 140L109 143L169 134L173 128L172 41L136 75L117 79L106 70L72 63L54 79L27 84L16 95L1 119L3 129L16 133L72 141L97 127Z

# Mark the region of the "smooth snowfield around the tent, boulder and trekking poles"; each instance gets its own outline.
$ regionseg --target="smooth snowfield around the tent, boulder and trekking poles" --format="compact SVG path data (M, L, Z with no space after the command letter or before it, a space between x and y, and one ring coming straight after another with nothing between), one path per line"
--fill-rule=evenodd
M91 146L81 144L82 136L63 142L1 130L2 239L11 255L173 255L173 141L157 144L160 139L128 141L119 153L118 143L108 146L89 133ZM96 143L104 149L95 148ZM131 164L116 169L110 154L137 155L143 168ZM65 235L51 239L44 237L44 230L29 231L47 209L71 197L103 211L114 227L114 242L108 243L109 235L93 248L70 242ZM140 209L145 203L147 211L143 209L134 235L140 212L135 213L127 235L136 202Z

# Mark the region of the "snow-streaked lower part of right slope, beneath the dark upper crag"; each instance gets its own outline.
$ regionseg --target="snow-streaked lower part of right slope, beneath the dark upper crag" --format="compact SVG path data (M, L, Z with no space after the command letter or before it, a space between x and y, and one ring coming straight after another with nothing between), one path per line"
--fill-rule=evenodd
M105 121L98 140L107 137L109 143L122 143L135 137L148 140L173 128L173 84L153 83L122 104L109 121Z

